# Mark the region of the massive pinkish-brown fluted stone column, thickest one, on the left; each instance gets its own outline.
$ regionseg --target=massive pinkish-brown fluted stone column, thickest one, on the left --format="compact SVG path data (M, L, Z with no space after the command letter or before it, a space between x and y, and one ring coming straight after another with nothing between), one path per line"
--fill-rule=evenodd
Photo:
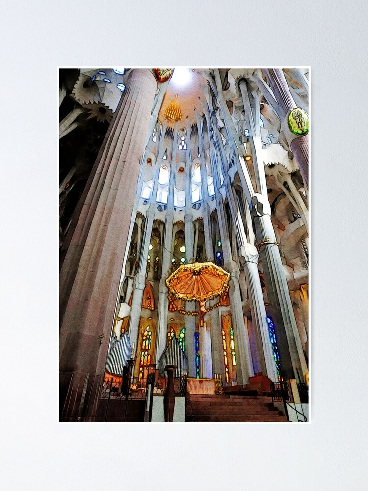
M89 393L88 383L86 391L83 384L75 385L73 373L104 374L107 340L156 89L150 70L131 71L83 195L84 205L60 271L60 406L64 408L62 417L67 420L76 418L83 406L83 393ZM100 335L105 338L102 344L100 339L104 338ZM74 409L67 401L71 393ZM90 397L95 396L91 393ZM88 406L90 420L95 417L97 405L98 399L96 405Z

